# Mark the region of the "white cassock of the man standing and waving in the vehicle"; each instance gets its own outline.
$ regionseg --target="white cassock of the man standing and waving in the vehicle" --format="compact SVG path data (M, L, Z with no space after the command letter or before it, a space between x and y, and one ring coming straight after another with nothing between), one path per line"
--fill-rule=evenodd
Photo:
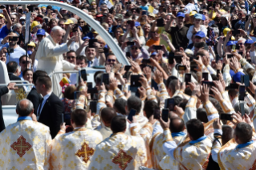
M59 82L63 79L63 74L53 75L53 72L73 71L75 68L74 64L63 59L63 53L67 51L69 51L67 43L59 45L53 41L51 35L48 35L46 38L43 38L42 42L40 42L39 49L35 55L35 59L39 60L37 70L46 71L51 77L53 92L59 98L62 95Z

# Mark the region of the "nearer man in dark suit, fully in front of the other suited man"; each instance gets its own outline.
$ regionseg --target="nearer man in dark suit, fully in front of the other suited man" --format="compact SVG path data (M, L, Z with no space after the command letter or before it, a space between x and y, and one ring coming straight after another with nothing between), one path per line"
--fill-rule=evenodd
M37 118L40 123L50 127L51 138L54 139L63 123L64 105L62 101L51 91L51 78L48 75L39 76L35 82L36 91L43 95L39 104Z

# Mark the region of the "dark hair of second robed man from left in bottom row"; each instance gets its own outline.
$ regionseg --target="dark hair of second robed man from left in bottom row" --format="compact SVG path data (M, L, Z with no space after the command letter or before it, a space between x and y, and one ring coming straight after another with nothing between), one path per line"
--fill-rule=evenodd
M87 121L87 112L83 109L75 109L71 113L71 119L74 121L75 125L83 126Z

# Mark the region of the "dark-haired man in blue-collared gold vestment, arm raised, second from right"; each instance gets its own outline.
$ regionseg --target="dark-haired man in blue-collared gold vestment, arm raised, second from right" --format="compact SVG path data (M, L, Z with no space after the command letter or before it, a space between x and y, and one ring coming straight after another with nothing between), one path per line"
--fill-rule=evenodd
M171 164L177 161L178 169L204 169L207 167L212 142L204 134L204 125L199 119L190 119L186 123L188 137L177 146L169 131L169 123L161 119L165 129L164 152L170 157ZM175 160L175 161L173 161Z

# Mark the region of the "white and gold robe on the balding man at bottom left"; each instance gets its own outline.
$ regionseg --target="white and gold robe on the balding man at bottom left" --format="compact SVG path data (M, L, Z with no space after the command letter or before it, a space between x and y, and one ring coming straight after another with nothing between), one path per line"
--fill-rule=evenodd
M0 133L0 169L49 169L50 144L50 129L43 123L12 123Z

